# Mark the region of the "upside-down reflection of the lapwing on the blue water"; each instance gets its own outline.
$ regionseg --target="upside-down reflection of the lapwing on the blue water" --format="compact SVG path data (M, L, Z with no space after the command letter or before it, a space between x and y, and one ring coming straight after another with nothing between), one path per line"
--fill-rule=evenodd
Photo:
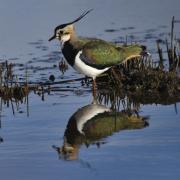
M63 139L63 145L53 148L59 158L64 160L78 159L82 145L87 148L96 144L98 147L106 143L104 139L115 132L127 129L141 129L148 126L146 117L130 111L114 111L105 105L93 101L79 108L69 119Z

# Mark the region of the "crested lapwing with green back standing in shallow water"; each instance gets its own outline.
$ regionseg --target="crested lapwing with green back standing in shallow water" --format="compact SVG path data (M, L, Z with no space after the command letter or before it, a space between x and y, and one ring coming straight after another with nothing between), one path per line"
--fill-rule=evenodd
M77 36L74 24L92 10L84 11L74 21L55 27L49 41L58 39L68 64L79 73L92 78L93 96L96 96L96 77L127 60L142 56L146 47L138 44L118 46L98 38Z

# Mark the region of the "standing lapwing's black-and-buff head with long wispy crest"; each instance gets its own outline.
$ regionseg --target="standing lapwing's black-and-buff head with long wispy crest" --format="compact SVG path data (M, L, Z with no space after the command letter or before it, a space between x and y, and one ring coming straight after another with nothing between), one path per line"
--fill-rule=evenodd
M75 19L72 22L57 26L54 29L54 35L49 39L49 41L52 41L53 39L58 39L62 42L69 41L71 36L75 33L73 24L78 22L80 19L82 19L90 11L92 11L92 9L85 11L84 13L81 14L81 16L79 16L77 19Z

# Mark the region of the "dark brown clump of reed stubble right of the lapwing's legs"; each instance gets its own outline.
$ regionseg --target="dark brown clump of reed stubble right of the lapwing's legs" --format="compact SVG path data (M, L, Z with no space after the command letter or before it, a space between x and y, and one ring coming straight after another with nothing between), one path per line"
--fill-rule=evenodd
M143 71L133 70L126 75L118 69L114 71L121 86L108 76L99 77L99 102L112 104L119 109L124 99L129 99L128 102L138 109L139 104L172 104L180 101L180 78L174 71L149 68Z

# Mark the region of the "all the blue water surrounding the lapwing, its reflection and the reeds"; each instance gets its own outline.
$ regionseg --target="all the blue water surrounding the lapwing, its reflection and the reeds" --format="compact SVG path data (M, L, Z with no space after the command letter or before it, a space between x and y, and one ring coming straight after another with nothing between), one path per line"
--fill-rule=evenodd
M0 59L21 63L28 68L29 80L46 81L82 77L69 68L64 76L58 65L62 55L58 42L49 43L53 28L71 21L83 10L94 10L76 24L79 35L123 40L134 35L135 41L149 47L154 57L155 40L165 38L171 18L180 18L178 0L0 0ZM113 33L107 29L116 29ZM179 24L175 31L179 35ZM15 67L18 77L25 70ZM44 67L45 69L38 69ZM62 85L66 87L66 85ZM33 92L26 103L12 108L3 105L1 112L0 179L163 179L180 178L180 104L141 105L140 115L149 116L149 126L123 130L108 136L100 148L82 145L77 160L60 159L53 145L62 146L69 118L79 108L92 102L91 93L79 82L70 83L74 91L45 94L45 101ZM75 88L74 88L75 87ZM77 90L82 90L78 95Z

